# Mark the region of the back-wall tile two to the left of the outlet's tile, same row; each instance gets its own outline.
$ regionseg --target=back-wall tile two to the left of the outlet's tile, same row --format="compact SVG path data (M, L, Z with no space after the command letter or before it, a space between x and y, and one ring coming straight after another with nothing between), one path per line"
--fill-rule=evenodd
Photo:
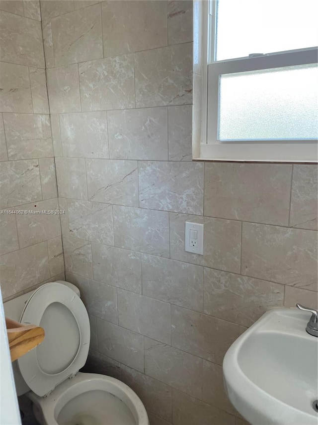
M68 200L69 235L114 245L113 212L109 204Z

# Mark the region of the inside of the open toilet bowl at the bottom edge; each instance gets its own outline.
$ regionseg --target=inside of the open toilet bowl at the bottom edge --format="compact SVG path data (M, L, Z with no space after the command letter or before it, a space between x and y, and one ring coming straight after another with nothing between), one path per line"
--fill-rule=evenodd
M118 397L100 390L79 394L58 415L59 425L137 425Z

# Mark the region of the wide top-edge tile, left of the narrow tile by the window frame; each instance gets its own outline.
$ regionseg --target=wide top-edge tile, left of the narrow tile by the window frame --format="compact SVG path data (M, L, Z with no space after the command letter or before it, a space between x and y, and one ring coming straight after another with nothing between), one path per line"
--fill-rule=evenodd
M104 57L167 45L166 1L103 1Z

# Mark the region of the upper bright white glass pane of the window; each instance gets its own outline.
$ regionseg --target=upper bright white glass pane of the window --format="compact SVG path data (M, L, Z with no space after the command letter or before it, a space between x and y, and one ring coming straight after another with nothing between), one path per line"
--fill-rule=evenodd
M215 60L318 45L317 0L219 0Z

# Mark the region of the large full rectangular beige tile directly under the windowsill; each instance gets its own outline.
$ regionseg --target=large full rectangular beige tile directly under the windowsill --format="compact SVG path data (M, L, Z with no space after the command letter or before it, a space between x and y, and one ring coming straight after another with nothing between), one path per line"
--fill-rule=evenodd
M288 226L291 164L205 164L204 215Z

